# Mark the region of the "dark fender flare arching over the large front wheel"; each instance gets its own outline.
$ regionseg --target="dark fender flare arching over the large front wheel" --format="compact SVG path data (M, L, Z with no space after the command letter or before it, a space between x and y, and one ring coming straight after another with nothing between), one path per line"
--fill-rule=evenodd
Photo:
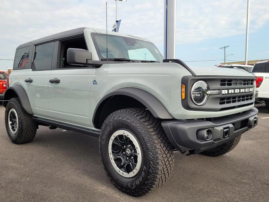
M115 90L115 91L105 95L98 102L97 106L95 107L95 111L93 113L92 120L95 120L96 112L97 112L99 106L101 105L101 103L113 95L127 95L131 98L138 100L145 107L147 107L147 109L152 113L152 115L155 118L173 119L173 117L167 111L165 106L154 95L148 93L147 91L139 89L139 88L126 87L126 88L120 88L118 90Z

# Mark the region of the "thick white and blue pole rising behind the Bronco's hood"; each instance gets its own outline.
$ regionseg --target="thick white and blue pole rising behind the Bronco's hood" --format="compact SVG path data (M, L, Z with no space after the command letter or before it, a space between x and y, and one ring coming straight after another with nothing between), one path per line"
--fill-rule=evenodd
M164 0L164 58L176 58L176 0Z

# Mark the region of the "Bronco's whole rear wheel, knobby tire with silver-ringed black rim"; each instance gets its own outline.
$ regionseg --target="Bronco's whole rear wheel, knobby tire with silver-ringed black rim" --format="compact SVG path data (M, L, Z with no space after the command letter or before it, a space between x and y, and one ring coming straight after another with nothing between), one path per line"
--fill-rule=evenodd
M24 111L19 98L11 98L5 111L6 131L15 144L31 142L35 138L37 123Z

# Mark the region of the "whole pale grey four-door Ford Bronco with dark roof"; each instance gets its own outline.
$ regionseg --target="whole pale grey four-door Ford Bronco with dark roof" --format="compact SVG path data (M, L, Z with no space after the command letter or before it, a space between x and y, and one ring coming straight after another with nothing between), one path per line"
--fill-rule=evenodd
M255 79L164 60L146 39L73 29L17 47L6 130L15 144L39 125L99 137L108 178L142 196L168 180L175 152L223 155L257 125Z

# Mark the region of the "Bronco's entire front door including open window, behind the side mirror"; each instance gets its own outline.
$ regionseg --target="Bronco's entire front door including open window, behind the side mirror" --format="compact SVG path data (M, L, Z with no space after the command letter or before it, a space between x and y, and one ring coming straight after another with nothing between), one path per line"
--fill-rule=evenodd
M87 49L84 37L59 42L58 60L53 61L49 76L49 116L57 121L91 127L90 84L94 68L67 64L68 48Z

